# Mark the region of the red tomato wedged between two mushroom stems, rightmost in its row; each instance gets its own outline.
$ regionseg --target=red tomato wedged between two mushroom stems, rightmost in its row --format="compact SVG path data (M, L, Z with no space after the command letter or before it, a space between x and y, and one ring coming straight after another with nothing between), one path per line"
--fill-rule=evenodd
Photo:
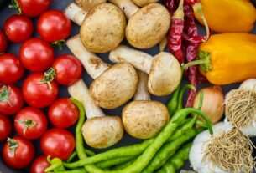
M81 79L81 63L73 55L61 55L55 59L53 68L55 69L55 79L59 84L71 85Z

